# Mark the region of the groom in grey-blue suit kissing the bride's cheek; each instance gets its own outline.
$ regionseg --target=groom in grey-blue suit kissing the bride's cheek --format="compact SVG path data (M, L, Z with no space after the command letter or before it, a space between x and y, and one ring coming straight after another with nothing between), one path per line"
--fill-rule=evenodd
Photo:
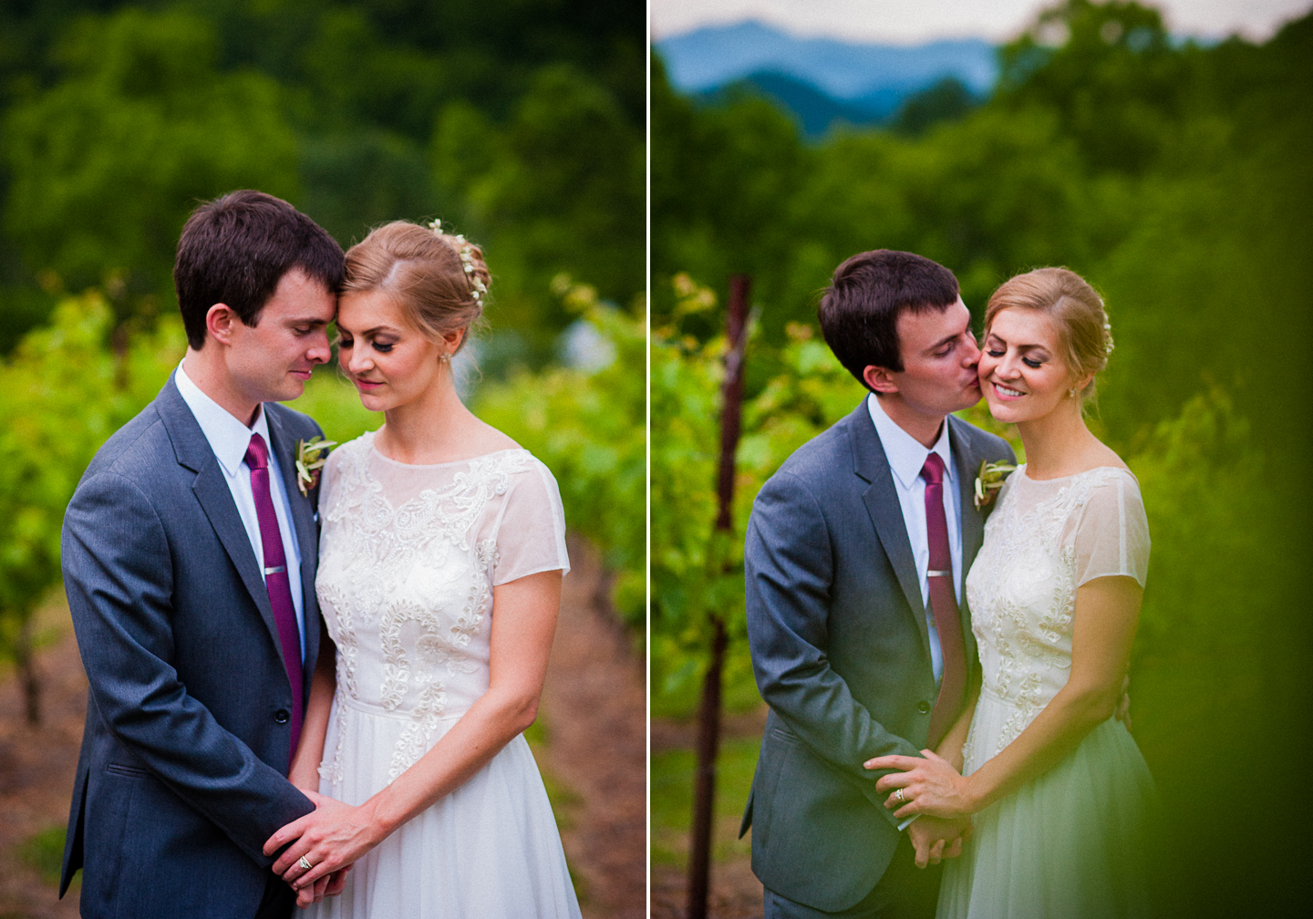
M968 823L893 817L878 754L919 755L977 679L962 580L983 537L973 486L1007 442L953 417L981 398L970 314L947 268L863 252L835 269L821 330L871 390L752 505L752 666L771 706L743 832L767 919L934 916L943 847Z

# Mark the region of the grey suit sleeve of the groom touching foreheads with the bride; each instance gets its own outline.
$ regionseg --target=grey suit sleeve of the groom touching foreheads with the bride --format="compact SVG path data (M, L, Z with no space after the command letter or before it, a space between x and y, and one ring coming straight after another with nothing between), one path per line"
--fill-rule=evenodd
M64 516L64 587L91 700L114 738L263 866L276 830L314 805L190 697L173 658L163 524L131 481L84 481Z

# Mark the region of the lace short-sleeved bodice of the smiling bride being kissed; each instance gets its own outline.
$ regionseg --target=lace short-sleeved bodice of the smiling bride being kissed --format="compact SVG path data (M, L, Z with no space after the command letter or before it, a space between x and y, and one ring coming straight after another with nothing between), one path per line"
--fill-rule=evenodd
M1015 712L995 748L966 750L968 759L995 756L1066 685L1077 588L1111 575L1144 587L1148 567L1149 524L1127 470L1103 466L1036 482L1020 466L1007 478L985 521L966 600L982 692Z

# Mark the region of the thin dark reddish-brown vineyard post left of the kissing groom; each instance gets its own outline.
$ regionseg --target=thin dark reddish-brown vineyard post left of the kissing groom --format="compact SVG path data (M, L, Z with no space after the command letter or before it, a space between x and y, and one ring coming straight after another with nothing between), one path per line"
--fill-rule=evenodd
M730 278L729 316L725 353L725 379L721 383L721 450L717 475L716 529L734 530L734 453L738 449L743 415L743 353L747 348L747 302L752 281L746 274ZM702 677L697 709L697 775L693 789L693 832L688 853L688 916L706 919L710 890L712 827L716 810L716 758L721 746L721 672L729 633L723 617L712 610L710 663Z

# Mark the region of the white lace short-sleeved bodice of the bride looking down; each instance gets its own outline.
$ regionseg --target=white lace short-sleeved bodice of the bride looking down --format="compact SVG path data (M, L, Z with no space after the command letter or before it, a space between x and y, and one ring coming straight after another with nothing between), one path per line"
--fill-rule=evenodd
M528 450L411 466L373 444L324 466L315 591L337 646L335 708L410 722L395 779L487 691L492 588L570 561L555 479ZM324 754L340 781L341 751Z

